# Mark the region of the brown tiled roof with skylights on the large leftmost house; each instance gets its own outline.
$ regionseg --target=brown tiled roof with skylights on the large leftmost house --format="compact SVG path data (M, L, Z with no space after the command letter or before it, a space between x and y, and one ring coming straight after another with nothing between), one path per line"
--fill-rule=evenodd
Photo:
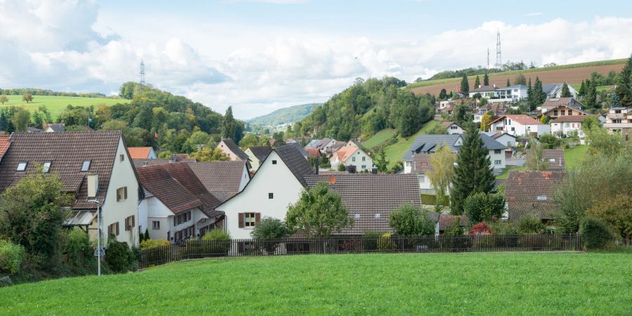
M0 191L18 183L38 165L51 162L49 172L59 173L64 185L62 190L77 192L72 209L94 209L93 203L86 202L88 185L84 178L87 172L81 172L81 164L90 160L89 171L98 172L98 199L103 202L120 138L121 131L13 133L11 147L0 162ZM18 162L28 163L25 172L16 171ZM131 195L135 193L131 192Z

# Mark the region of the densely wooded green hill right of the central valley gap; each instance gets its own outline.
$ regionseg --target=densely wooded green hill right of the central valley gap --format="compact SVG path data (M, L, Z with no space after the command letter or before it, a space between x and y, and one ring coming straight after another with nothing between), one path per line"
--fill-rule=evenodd
M406 81L394 77L360 79L296 123L294 135L367 139L382 129L397 129L400 136L411 136L433 118L435 100L402 86Z

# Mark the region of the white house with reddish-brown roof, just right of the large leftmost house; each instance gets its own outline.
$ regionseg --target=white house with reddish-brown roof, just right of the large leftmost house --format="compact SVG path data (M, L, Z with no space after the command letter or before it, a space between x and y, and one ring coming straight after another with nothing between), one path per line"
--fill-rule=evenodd
M189 164L161 164L138 169L145 198L138 206L140 230L151 239L182 240L204 236L223 217L220 201L195 176Z

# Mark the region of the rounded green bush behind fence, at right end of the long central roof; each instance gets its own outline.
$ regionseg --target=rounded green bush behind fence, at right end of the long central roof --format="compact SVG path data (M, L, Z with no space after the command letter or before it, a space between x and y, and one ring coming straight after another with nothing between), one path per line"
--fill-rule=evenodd
M389 225L399 236L435 235L435 223L428 213L412 204L402 204L390 212Z

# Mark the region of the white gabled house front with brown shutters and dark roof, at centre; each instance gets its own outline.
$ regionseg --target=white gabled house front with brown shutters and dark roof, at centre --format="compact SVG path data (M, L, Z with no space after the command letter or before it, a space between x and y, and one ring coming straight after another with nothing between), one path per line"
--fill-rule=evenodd
M232 238L251 238L262 217L284 220L287 206L296 203L306 186L304 176L313 173L295 146L272 149L244 190L216 207L225 213L223 227Z

